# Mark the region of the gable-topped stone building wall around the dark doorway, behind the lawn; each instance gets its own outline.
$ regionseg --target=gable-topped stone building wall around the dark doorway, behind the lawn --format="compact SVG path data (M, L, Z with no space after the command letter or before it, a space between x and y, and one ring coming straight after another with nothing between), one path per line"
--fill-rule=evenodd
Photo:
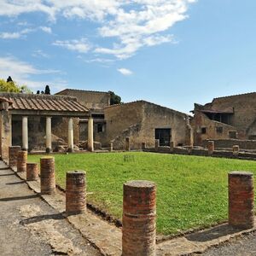
M113 148L119 145L117 149L123 149L121 140L125 142L125 137L130 137L131 149L141 148L142 143L153 147L155 129L171 129L171 140L176 144L185 145L190 141L190 132L187 132L189 116L170 108L138 101L104 108L104 113L106 141L118 141Z

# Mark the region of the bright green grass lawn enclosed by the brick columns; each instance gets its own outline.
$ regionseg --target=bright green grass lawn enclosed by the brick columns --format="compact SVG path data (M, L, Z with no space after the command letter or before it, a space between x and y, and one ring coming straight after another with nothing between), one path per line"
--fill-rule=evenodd
M157 232L175 234L227 219L230 171L256 173L256 161L199 156L128 153L55 154L56 181L65 189L67 171L84 170L87 201L115 218L122 215L123 183L146 179L157 184ZM29 161L40 156L30 155Z

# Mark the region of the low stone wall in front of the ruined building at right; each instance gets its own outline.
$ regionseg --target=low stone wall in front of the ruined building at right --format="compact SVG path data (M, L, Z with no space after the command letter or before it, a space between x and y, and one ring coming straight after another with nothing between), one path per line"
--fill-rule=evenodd
M203 147L207 147L208 141L213 141L215 148L232 148L238 145L241 149L254 149L256 150L256 140L237 140L237 139L221 139L221 140L205 140Z

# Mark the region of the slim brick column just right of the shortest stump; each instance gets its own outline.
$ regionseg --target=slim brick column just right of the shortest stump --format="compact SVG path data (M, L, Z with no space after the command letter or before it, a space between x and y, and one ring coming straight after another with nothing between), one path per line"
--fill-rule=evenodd
M41 194L52 194L55 192L55 159L52 156L40 159Z

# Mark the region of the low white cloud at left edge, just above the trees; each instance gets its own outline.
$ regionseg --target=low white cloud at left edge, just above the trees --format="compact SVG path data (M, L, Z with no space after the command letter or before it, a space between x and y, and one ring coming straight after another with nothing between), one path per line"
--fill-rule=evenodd
M36 81L33 79L36 75L60 73L57 70L41 70L32 65L15 59L12 56L0 56L0 74L1 79L12 77L18 84L26 84L29 88L41 88L47 81ZM48 81L49 84L49 81ZM51 82L52 84L52 82ZM61 84L61 83L59 83ZM63 84L63 83L62 83Z

